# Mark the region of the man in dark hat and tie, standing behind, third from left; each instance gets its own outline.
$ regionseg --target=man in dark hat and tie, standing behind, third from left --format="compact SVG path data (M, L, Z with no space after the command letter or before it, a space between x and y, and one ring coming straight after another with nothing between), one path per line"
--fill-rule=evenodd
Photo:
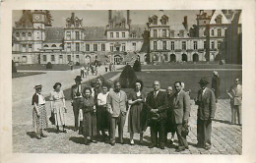
M81 98L83 97L83 86L81 84L81 81L81 76L77 76L75 79L76 84L72 85L71 87L71 105L73 106L73 112L75 117L75 132L78 131L79 104Z

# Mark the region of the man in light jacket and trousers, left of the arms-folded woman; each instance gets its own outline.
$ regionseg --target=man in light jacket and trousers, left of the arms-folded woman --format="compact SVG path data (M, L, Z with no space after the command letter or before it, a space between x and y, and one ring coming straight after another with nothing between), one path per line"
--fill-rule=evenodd
M125 124L126 113L128 109L128 99L124 91L120 90L119 81L114 82L114 90L109 91L106 99L107 111L110 114L110 144L115 144L115 128L118 125L118 135L120 143L123 142L123 127Z

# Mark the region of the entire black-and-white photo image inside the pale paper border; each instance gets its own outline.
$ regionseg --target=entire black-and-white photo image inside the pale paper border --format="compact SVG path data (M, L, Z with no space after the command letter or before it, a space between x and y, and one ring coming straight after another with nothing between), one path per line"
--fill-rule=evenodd
M243 154L242 12L13 10L13 152Z

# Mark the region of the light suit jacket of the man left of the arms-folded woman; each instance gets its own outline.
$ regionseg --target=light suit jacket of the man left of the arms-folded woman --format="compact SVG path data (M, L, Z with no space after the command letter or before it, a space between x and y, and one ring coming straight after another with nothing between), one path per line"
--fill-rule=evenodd
M124 91L120 90L120 97L110 90L106 98L106 107L112 110L112 117L119 117L120 113L125 116L128 110L128 99Z

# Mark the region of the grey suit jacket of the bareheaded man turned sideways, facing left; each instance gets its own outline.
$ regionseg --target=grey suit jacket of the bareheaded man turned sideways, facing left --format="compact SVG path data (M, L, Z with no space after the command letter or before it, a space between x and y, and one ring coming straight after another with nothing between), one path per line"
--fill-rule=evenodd
M176 124L182 124L187 121L190 114L190 97L184 90L179 93L175 92L172 98L173 112Z

